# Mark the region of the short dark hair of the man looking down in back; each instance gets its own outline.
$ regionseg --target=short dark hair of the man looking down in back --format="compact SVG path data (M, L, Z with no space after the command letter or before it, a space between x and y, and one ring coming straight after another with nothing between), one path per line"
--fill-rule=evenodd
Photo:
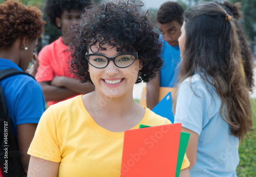
M157 21L164 24L175 20L182 25L183 13L184 9L179 3L166 2L162 4L160 9L157 11Z

